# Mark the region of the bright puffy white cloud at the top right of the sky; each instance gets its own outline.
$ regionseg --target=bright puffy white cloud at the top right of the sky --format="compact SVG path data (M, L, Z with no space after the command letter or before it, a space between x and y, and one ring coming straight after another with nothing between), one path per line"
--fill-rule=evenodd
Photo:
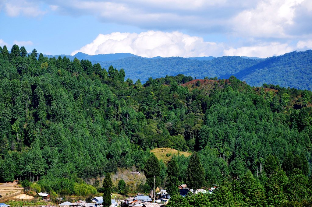
M285 32L295 22L295 8L303 0L261 0L255 8L240 12L232 20L233 31L253 37L290 37Z

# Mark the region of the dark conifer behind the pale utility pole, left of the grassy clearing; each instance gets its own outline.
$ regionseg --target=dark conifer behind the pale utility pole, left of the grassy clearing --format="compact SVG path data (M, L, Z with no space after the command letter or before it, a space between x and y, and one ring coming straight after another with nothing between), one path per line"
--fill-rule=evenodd
M151 189L154 189L154 178L155 178L155 188L160 186L161 180L159 178L160 164L157 157L152 153L147 159L144 166L144 175L146 177L146 182Z

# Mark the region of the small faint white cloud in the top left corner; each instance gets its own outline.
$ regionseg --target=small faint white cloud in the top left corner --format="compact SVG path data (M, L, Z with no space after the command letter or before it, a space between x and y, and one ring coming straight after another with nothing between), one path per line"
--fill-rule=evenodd
M17 17L19 15L38 17L46 13L34 1L3 0L0 2L0 8L3 8L10 17Z

